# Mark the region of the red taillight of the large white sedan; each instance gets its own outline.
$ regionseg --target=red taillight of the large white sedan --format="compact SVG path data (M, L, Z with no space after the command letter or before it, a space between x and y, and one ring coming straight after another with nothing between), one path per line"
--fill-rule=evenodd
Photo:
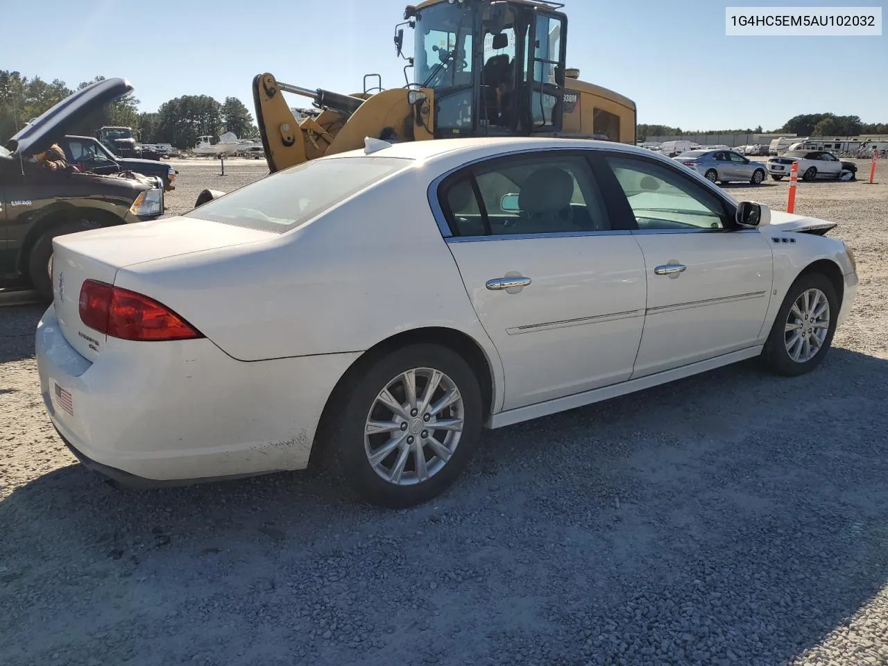
M80 319L99 333L124 340L203 337L200 331L154 298L96 280L83 281Z

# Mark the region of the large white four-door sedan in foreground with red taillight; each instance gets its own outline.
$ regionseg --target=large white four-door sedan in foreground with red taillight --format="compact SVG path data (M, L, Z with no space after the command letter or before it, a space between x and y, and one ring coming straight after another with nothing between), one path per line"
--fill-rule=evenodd
M75 455L124 483L323 452L407 506L482 427L756 356L813 369L857 285L833 226L621 144L371 139L182 217L56 238L41 388Z

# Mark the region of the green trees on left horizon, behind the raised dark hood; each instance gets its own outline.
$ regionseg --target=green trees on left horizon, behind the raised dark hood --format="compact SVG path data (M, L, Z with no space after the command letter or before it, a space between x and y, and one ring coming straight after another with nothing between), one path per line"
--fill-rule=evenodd
M104 78L96 76L79 83L77 90ZM20 72L0 70L0 146L73 92L59 79L47 83L39 76L28 79ZM103 125L131 127L142 143L170 143L179 148L193 147L200 136L218 137L226 131L234 132L239 139L258 139L259 135L240 99L226 97L219 102L208 95L170 99L154 112L139 112L139 99L125 95L88 115L69 133L93 136Z

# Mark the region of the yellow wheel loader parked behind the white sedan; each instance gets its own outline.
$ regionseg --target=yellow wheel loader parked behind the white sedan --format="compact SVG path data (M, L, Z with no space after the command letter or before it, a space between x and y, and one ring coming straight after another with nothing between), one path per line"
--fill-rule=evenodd
M272 172L321 155L361 148L366 137L418 141L541 136L635 143L635 103L578 80L565 67L567 16L544 0L427 0L395 27L398 54L414 83L344 95L253 81L256 119ZM414 54L402 53L404 27ZM283 93L313 99L297 122Z

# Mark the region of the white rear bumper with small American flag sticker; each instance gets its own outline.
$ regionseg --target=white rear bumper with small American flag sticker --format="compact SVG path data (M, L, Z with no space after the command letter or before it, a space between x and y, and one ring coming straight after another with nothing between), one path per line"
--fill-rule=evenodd
M51 305L36 356L46 410L75 456L145 487L305 468L329 393L358 354L244 362L206 338L107 338L91 362Z

